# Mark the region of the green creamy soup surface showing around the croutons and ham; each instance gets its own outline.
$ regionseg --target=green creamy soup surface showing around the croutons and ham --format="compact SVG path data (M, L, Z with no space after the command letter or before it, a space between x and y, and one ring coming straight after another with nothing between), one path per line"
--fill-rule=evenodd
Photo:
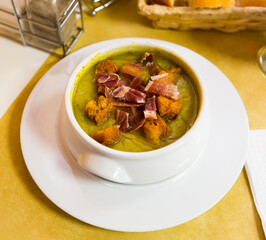
M147 51L147 50L146 50ZM119 67L127 62L134 62L144 52L140 50L128 50L111 54L108 59L114 61ZM167 70L170 67L177 67L169 57L165 57L161 51L152 50L155 54L155 62L161 70ZM107 127L116 124L114 114L108 120L100 125L97 125L93 120L88 118L84 111L88 101L96 99L97 85L95 84L95 68L97 63L102 60L98 59L93 63L87 64L77 75L77 80L72 91L72 109L74 116L79 123L80 127L89 135L95 131L103 130ZM144 71L142 74L142 82L148 82L149 76ZM193 125L197 114L199 112L199 94L197 93L197 85L192 81L191 77L185 71L182 72L181 77L176 83L178 91L180 92L180 99L182 107L173 120L162 117L169 130L169 136L162 139L159 144L154 145L145 138L141 129L132 133L121 133L120 140L108 147L127 152L145 152L164 147L173 143L175 140L183 136Z

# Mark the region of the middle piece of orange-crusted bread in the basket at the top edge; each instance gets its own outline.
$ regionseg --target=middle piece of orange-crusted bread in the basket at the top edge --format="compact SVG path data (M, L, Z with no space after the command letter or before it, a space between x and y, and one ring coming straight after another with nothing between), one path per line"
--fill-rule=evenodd
M252 0L250 0L250 1L252 1ZM261 1L263 1L263 0L261 0ZM235 0L190 0L190 6L195 7L195 8L234 7L235 6Z

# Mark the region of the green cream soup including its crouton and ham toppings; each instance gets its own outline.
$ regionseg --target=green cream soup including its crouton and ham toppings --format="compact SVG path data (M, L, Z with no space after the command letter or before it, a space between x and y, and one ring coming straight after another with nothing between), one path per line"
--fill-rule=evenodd
M71 102L77 122L96 141L144 152L190 129L199 112L197 89L159 49L124 49L87 63L77 75Z

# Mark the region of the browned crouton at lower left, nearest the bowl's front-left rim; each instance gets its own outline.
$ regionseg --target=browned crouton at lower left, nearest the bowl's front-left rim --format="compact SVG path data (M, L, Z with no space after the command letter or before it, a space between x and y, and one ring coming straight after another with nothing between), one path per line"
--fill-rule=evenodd
M118 126L112 126L101 131L97 131L92 136L97 142L103 145L115 143L120 138Z

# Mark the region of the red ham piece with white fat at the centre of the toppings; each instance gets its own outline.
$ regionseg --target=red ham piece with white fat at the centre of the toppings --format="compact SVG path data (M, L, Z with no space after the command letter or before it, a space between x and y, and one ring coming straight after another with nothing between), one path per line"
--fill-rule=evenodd
M127 102L145 103L146 95L134 88L122 86L113 91L115 98L121 99Z

